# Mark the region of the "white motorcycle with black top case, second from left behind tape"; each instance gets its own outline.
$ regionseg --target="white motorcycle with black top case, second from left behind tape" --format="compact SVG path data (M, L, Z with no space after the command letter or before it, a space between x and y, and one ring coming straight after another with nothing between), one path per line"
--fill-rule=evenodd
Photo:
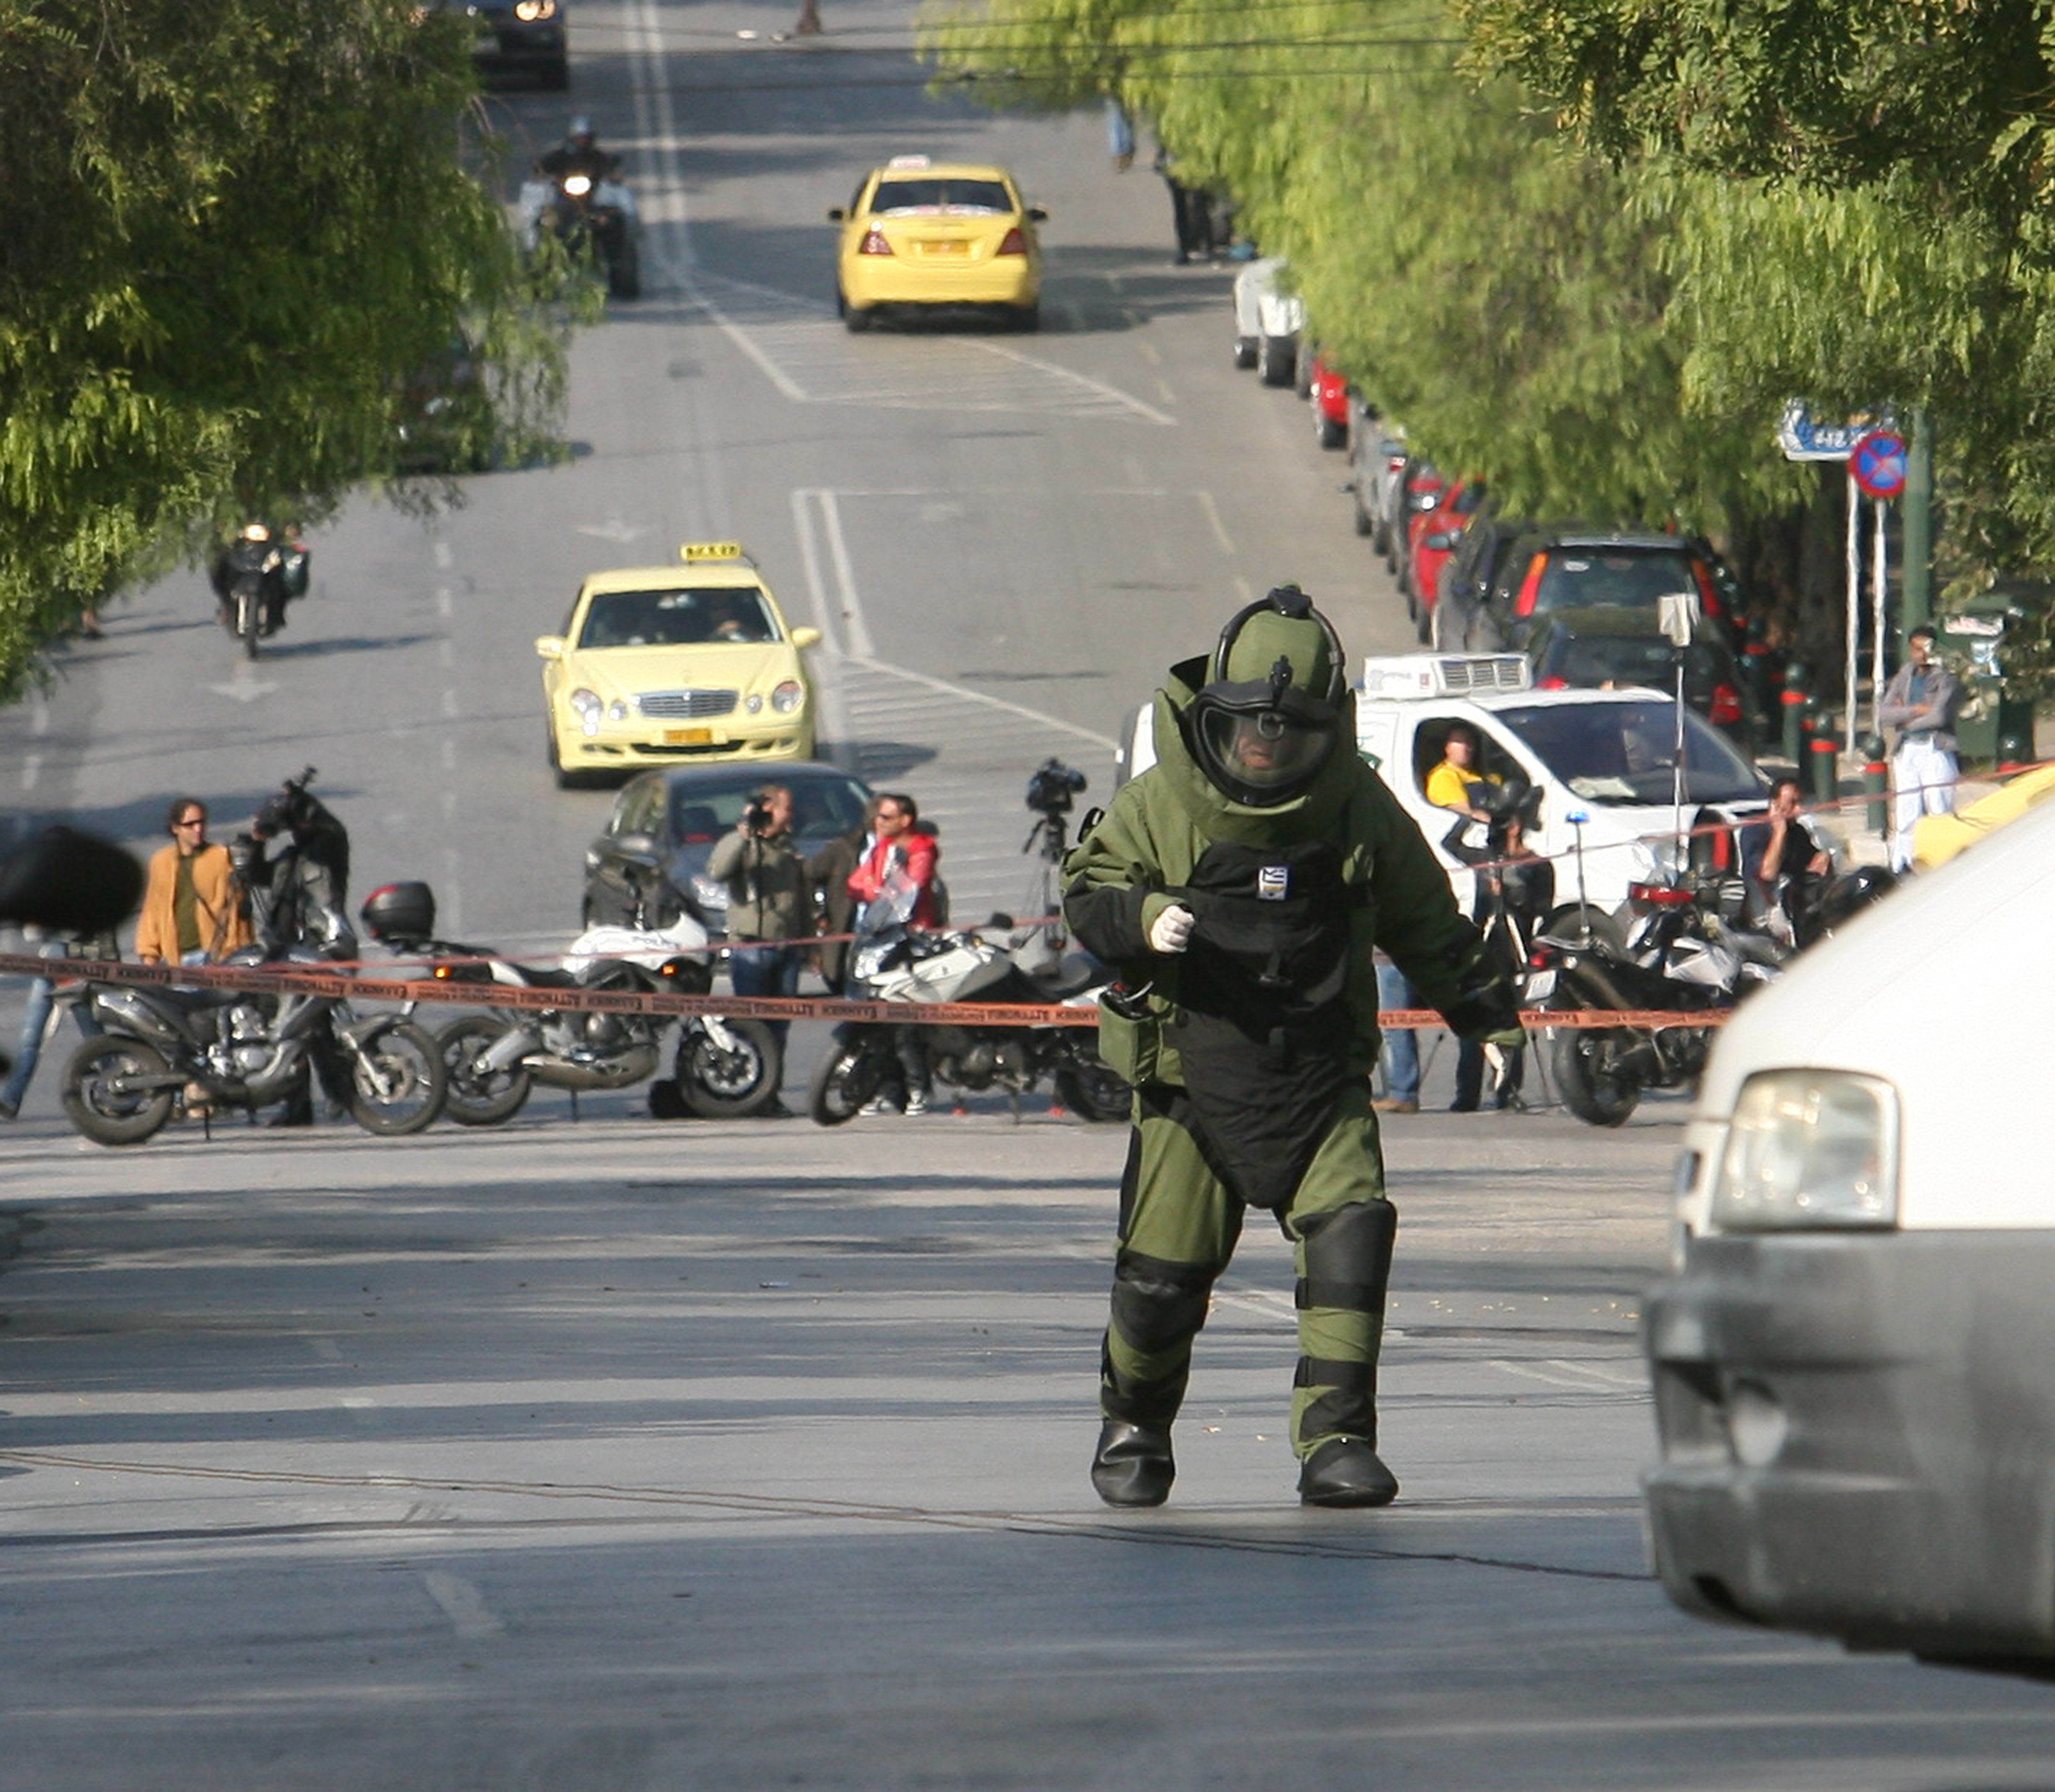
M386 884L364 900L366 931L388 949L432 960L438 982L563 991L563 1007L497 1007L464 1015L440 1034L448 1075L444 1112L458 1126L512 1120L536 1085L571 1095L631 1089L653 1077L670 1015L577 1007L577 993L705 995L713 986L707 931L690 914L668 929L594 927L571 941L561 968L516 964L485 945L436 939L427 884ZM649 1089L658 1120L695 1114L738 1120L777 1097L779 1050L762 1021L684 1015L668 1079Z

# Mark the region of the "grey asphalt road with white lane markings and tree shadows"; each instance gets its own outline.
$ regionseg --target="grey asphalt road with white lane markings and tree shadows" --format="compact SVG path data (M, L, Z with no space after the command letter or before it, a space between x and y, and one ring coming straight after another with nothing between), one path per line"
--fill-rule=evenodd
M1021 888L1030 769L1104 793L1237 600L1297 577L1404 649L1336 456L1229 370L1227 271L1169 267L1161 183L1095 117L925 97L904 23L580 8L577 90L499 99L538 142L590 109L651 220L649 296L575 351L577 456L351 510L255 668L197 575L113 606L0 715L12 830L148 847L175 791L232 824L314 762L360 890L561 941L608 799L549 779L530 637L695 536L828 631L828 746L921 793L966 908ZM1040 337L836 327L824 212L908 148L1050 210ZM1646 1576L1679 1118L1393 1122L1402 1502L1295 1504L1288 1256L1251 1227L1173 1502L1118 1515L1083 1476L1118 1128L621 1095L107 1153L49 1071L0 1194L0 1792L2055 1784L2041 1689L1702 1626Z

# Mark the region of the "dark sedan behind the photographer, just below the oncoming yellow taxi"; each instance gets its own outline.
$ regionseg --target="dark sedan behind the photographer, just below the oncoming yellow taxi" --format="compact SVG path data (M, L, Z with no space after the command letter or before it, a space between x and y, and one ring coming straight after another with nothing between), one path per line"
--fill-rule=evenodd
M871 795L859 779L818 760L645 771L621 787L606 832L586 847L586 925L664 925L686 910L723 935L727 890L707 878L707 859L767 785L791 791L793 838L808 857L836 834L859 830Z

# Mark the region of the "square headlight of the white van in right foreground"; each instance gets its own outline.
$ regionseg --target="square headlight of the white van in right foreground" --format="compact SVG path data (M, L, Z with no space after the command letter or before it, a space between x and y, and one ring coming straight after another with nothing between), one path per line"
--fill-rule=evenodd
M1850 1071L1757 1071L1734 1097L1708 1219L1718 1231L1897 1225L1897 1091Z

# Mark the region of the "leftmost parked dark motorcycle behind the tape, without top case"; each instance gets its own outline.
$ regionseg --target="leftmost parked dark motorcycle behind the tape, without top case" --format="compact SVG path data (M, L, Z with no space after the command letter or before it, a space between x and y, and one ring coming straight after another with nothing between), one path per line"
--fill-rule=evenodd
M228 964L333 968L304 945ZM302 1102L308 1075L366 1132L419 1132L442 1108L442 1052L397 1013L356 1015L333 995L92 984L105 1030L64 1073L64 1112L95 1145L142 1145L177 1112Z

